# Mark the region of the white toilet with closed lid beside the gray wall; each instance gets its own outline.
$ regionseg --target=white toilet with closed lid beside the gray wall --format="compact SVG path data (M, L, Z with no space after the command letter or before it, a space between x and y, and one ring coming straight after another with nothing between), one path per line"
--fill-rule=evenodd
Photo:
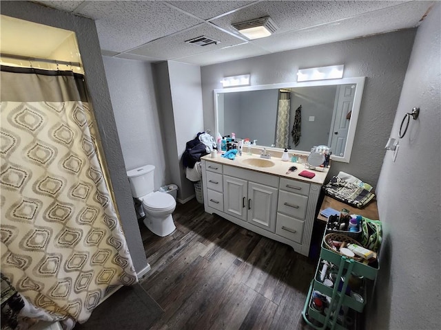
M176 201L167 192L154 191L154 166L145 165L127 171L132 196L143 203L144 224L154 234L167 236L176 229L172 212Z

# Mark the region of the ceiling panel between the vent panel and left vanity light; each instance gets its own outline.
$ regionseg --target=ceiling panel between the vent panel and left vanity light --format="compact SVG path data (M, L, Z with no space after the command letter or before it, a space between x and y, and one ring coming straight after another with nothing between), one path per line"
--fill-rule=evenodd
M240 45L214 50L203 54L196 54L187 56L185 58L175 58L175 61L189 63L194 65L212 65L216 63L240 60L241 58L248 58L253 56L260 56L269 54L270 52L263 50L260 47L252 45L252 43L243 43Z

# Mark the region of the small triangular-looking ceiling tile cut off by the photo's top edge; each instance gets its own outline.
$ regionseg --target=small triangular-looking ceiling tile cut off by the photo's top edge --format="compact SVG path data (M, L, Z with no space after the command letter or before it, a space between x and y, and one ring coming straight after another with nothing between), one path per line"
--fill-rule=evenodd
M225 12L254 3L256 1L167 1L172 5L194 14L201 19L212 19Z

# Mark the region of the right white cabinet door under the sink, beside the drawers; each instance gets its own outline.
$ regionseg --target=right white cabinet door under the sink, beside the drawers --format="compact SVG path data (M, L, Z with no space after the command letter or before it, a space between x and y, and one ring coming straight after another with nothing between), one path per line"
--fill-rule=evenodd
M271 232L276 230L278 189L248 182L247 221Z

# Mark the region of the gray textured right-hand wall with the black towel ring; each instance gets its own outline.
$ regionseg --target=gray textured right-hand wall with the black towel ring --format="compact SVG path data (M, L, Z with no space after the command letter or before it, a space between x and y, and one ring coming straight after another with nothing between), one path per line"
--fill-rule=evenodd
M441 324L441 4L416 34L391 137L404 113L420 107L393 162L378 180L384 241L367 329L440 329Z

